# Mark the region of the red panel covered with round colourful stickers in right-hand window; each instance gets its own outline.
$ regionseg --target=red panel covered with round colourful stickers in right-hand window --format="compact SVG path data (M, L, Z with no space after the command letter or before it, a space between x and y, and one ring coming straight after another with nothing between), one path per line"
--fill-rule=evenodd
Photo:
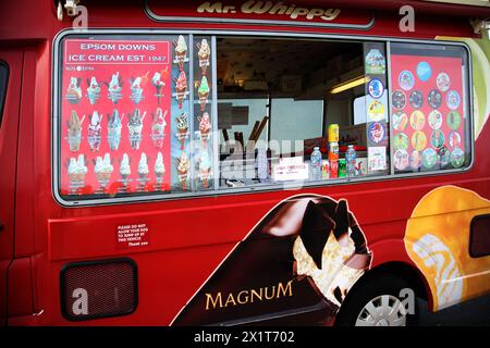
M463 166L462 58L392 54L391 65L395 172Z

